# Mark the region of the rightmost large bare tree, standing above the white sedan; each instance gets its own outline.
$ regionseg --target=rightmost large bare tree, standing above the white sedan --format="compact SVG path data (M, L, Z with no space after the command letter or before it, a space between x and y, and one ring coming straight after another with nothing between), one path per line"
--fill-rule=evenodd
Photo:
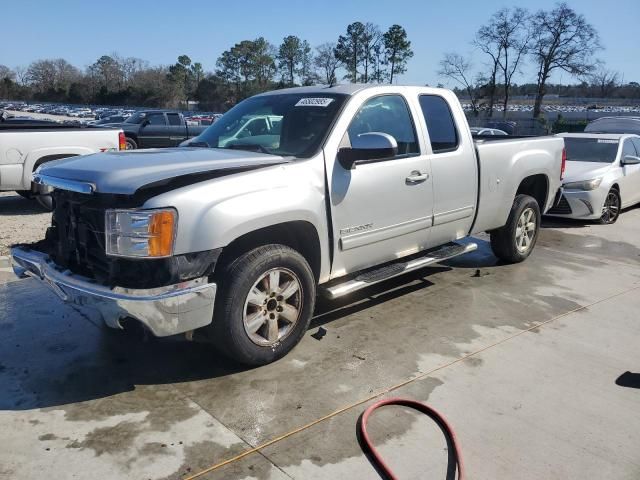
M593 71L593 54L599 50L598 32L566 3L551 11L540 10L533 16L534 32L531 56L538 66L538 82L533 116L540 116L545 86L555 70L575 76Z

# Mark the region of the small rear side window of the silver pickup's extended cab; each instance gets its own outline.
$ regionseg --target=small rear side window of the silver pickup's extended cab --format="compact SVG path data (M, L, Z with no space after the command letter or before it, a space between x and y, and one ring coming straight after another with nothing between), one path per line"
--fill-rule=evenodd
M420 95L420 108L427 124L433 153L458 148L458 131L446 100L438 95Z

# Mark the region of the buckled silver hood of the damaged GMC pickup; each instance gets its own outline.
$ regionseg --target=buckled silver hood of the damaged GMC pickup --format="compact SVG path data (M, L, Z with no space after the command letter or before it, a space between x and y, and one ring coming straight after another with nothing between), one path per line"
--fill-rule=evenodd
M38 173L90 183L98 193L132 195L165 180L197 174L220 175L288 163L276 155L220 148L163 148L104 152L45 163ZM210 178L210 177L208 177Z

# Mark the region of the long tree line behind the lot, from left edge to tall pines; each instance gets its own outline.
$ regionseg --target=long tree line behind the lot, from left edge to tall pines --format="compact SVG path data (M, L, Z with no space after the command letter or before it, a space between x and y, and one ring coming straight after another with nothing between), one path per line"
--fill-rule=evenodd
M169 66L117 53L84 69L63 58L14 69L0 65L0 98L149 107L198 101L201 109L224 111L256 93L295 85L393 83L412 56L402 26L383 31L372 23L354 22L336 42L315 48L295 35L279 45L264 37L243 40L218 57L212 72L188 55Z

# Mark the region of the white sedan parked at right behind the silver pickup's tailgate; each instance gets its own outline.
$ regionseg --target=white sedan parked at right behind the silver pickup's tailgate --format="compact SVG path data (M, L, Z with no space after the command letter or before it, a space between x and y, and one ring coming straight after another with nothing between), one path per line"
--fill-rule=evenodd
M560 201L547 215L614 223L640 203L640 136L561 133L567 163Z

